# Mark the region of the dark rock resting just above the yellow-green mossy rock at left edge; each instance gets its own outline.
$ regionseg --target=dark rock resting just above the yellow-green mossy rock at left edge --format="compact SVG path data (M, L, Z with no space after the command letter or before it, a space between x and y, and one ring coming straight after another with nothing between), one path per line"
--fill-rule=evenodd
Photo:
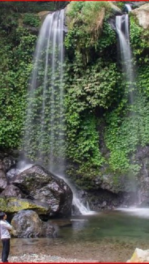
M4 197L18 197L18 198L24 198L25 195L21 192L21 190L14 186L13 184L7 185L5 190L2 191L0 196Z

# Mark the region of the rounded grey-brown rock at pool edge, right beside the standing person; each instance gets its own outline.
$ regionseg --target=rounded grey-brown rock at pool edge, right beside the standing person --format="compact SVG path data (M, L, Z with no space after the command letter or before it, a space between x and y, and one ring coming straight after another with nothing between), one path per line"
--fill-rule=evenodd
M55 228L52 224L44 223L38 214L32 210L20 210L13 219L11 225L16 230L15 236L22 238L55 236Z

